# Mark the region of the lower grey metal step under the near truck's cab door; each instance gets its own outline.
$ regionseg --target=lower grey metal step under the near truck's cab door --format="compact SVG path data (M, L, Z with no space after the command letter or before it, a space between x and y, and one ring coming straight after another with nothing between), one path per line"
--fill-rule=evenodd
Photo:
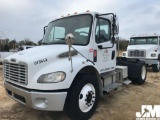
M112 84L109 84L109 85L103 87L103 91L109 93L110 91L118 88L118 87L121 86L121 85L122 85L122 83L117 83L117 82L115 82L115 83L112 83Z

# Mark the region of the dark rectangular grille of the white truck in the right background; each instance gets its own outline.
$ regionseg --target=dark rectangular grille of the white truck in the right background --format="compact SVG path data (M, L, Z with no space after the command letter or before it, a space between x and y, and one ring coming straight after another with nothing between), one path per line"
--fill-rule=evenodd
M128 52L129 57L146 57L145 50L130 50Z

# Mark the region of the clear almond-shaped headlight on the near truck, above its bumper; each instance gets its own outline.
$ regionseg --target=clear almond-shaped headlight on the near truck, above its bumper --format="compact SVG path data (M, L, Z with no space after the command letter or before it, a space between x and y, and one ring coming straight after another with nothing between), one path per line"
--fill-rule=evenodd
M49 74L41 75L38 78L37 83L56 83L56 82L62 82L66 77L66 74L64 72L54 72Z

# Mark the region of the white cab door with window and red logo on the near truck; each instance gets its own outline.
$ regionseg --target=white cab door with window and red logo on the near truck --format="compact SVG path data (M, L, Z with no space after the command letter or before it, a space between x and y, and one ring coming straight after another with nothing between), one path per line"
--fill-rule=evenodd
M100 73L112 71L116 66L116 45L111 40L111 23L97 18L95 27L94 62Z

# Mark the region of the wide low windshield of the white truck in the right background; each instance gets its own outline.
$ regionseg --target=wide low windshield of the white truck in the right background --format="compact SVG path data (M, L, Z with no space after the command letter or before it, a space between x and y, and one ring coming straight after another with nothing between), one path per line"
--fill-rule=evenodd
M141 38L131 38L130 45L145 45L145 44L158 44L157 37L141 37Z

